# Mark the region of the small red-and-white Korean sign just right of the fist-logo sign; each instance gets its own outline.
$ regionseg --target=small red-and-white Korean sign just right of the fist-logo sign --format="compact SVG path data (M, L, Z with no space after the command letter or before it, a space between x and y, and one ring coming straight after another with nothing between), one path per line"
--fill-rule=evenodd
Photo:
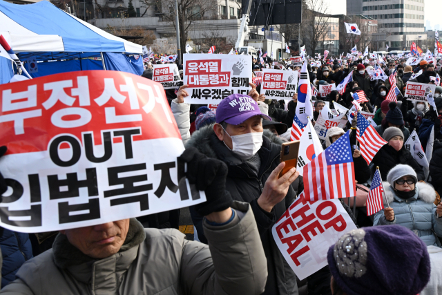
M293 99L298 88L298 72L289 70L263 70L260 94L268 99Z

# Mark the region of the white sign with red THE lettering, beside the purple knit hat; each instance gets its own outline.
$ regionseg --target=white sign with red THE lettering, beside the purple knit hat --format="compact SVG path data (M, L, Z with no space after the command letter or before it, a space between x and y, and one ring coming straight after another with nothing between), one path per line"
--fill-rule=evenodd
M273 225L276 245L300 280L327 265L327 251L356 229L339 200L307 201L304 193Z

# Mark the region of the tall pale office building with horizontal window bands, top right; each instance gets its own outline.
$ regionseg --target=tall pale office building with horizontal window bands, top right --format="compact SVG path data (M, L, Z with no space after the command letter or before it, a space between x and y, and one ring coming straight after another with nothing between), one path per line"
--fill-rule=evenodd
M426 49L425 0L362 1L363 15L378 21L373 42L377 50L407 50L412 42ZM348 1L347 1L348 3Z

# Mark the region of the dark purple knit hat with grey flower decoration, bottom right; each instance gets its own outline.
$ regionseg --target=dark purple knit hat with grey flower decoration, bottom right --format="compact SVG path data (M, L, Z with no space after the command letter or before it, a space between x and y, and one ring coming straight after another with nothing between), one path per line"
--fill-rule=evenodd
M427 246L410 229L354 229L327 254L330 272L347 295L416 295L430 280Z

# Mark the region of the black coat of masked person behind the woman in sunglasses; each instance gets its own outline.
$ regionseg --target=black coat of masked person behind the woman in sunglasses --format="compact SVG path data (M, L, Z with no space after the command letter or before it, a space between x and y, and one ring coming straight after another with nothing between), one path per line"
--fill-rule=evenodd
M375 168L376 166L379 166L379 171L381 171L381 178L383 180L387 179L388 172L390 172L390 170L397 164L412 166L412 169L416 171L417 180L425 179L421 166L419 166L416 160L414 160L412 153L405 149L405 146L402 146L402 149L396 151L392 146L385 144L378 153L374 155L372 163Z

